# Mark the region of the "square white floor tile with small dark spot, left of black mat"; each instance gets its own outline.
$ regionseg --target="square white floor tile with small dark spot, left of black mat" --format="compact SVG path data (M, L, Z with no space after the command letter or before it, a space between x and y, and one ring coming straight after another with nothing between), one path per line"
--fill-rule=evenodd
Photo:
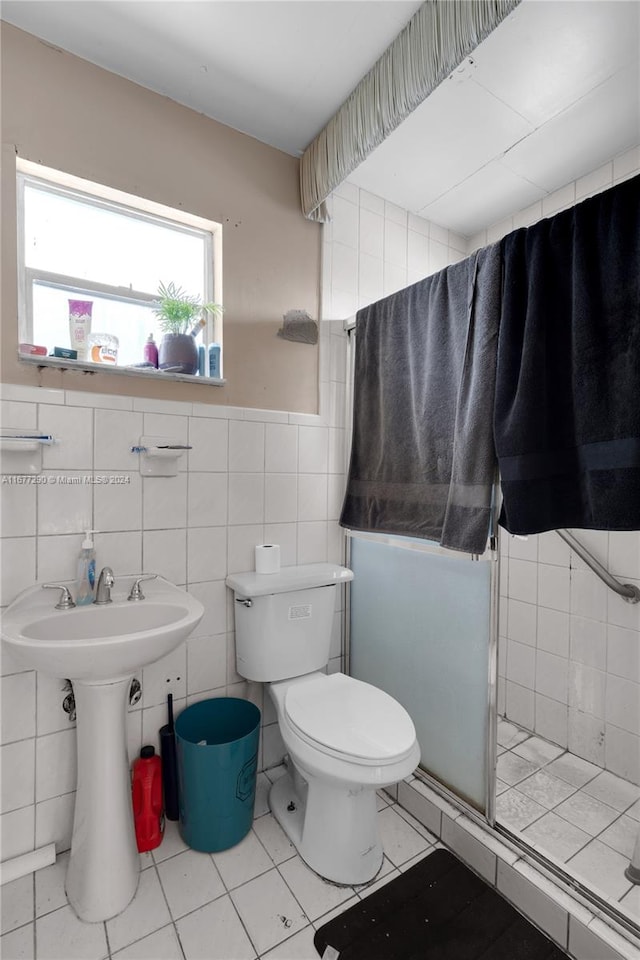
M231 893L231 899L259 954L292 937L309 923L302 907L275 869L237 887Z

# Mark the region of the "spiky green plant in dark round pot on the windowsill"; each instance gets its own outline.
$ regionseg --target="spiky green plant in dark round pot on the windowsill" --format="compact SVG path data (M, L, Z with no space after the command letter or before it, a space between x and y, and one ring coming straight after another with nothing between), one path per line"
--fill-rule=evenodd
M167 373L194 374L198 369L195 335L204 325L206 313L220 313L219 303L202 303L175 283L158 287L153 312L164 336L158 350L158 366Z

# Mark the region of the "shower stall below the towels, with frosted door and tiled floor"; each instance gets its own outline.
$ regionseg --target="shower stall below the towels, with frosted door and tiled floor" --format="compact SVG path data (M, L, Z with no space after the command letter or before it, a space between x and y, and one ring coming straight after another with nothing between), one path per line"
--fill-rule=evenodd
M349 672L408 710L419 777L638 930L640 591L593 554L640 536L495 533L349 532Z

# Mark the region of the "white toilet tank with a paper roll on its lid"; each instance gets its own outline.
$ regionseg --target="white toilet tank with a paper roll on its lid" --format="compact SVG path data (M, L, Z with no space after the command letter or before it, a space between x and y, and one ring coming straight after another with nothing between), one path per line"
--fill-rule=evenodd
M351 570L333 563L227 577L235 594L238 673L266 682L326 666L336 589L352 579Z

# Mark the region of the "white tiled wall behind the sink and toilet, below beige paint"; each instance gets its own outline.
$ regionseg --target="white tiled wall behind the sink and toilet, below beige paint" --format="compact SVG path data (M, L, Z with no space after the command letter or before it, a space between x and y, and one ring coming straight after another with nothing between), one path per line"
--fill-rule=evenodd
M345 337L323 324L321 344L329 358L325 392L335 384L334 396L342 397ZM335 522L344 486L341 403L334 403L335 419L322 421L12 385L3 395L5 423L40 424L59 443L48 451L46 484L2 487L3 514L10 518L3 524L2 603L36 578L72 579L82 530L95 527L98 564L109 563L116 578L155 571L205 604L196 634L143 672L143 700L129 714L134 756L143 739L155 742L166 722L168 691L178 711L187 697L193 702L245 690L234 686L241 678L233 669L224 578L252 568L256 544L265 538L281 543L285 564L341 559ZM141 478L130 448L143 432L192 445L177 477ZM88 482L98 473L128 482ZM339 645L334 654L339 657ZM4 652L2 663L3 857L50 840L65 849L76 771L74 724L61 706L63 680L25 671ZM283 745L275 716L268 719L263 762L270 765L281 759Z

